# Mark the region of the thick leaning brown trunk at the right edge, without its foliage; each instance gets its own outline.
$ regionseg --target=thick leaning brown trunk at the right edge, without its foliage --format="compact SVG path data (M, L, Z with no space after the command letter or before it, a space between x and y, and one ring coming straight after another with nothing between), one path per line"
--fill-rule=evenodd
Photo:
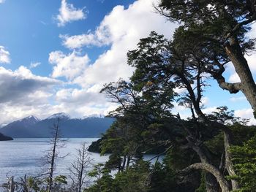
M241 91L252 106L256 118L256 85L236 37L230 37L225 50L241 80Z

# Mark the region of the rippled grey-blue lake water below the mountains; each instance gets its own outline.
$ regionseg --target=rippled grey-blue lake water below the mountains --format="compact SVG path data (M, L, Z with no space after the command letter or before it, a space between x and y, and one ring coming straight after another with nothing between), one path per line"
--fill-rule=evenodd
M81 143L91 145L96 138L73 138L68 139L66 147L60 149L61 155L67 155L56 161L56 174L68 175L68 168L75 160L76 149ZM15 139L13 141L0 142L0 183L5 183L7 176L14 176L16 180L27 175L37 175L48 169L42 166L42 157L45 151L50 149L49 139ZM100 156L98 153L90 153L94 159L92 164L105 163L108 161L108 155ZM150 159L152 155L147 155Z

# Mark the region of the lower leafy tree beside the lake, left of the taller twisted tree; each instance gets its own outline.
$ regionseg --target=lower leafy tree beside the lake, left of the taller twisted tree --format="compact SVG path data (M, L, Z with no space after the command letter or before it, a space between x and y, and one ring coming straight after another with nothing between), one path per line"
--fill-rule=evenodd
M105 85L101 91L112 101L121 104L110 112L116 122L108 129L101 142L102 153L112 153L106 165L110 169L118 169L118 172L128 169L132 162L140 160L143 153L151 147L167 148L169 145L157 138L157 129L162 126L159 118L171 116L168 110L173 107L170 103L173 98L172 89L163 88L162 92L157 93L151 88L143 96L136 89L138 88L132 83L119 80ZM153 130L156 138L151 137Z

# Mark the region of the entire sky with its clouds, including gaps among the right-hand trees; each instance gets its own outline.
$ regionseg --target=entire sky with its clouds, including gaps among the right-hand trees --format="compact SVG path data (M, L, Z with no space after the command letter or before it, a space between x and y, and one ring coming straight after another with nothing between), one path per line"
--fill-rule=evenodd
M157 14L158 0L0 0L0 124L65 112L73 118L103 114L116 104L99 94L102 85L129 80L127 51L151 31L172 37L178 26ZM256 37L256 25L249 37ZM256 54L246 56L255 75ZM239 78L232 64L225 77ZM204 93L204 112L219 106L252 118L242 93L217 83ZM189 112L176 104L181 118Z

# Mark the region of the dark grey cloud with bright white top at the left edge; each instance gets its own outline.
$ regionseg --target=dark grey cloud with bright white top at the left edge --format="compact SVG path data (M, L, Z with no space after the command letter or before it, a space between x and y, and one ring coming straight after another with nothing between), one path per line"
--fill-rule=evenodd
M33 105L33 97L40 101L40 95L46 93L59 84L59 81L48 77L40 77L31 73L25 66L20 66L17 70L11 70L0 67L0 103L23 103ZM39 91L39 92L38 92ZM37 93L40 93L38 95Z

